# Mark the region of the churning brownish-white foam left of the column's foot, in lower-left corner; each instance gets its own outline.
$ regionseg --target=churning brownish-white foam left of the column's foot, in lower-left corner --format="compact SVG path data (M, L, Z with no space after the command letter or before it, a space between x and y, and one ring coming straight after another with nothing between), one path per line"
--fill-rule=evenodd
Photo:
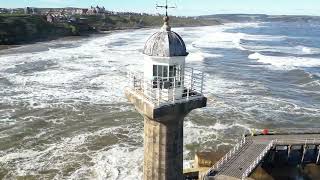
M79 179L84 176L89 179L106 179L104 178L108 176L106 174L111 174L112 179L117 179L118 175L121 175L121 177L128 175L132 177L129 179L134 179L134 175L142 173L141 170L134 169L141 164L140 157L143 155L143 152L141 152L142 147L139 149L126 144L118 144L111 145L111 147L107 146L96 152L89 150L79 152L79 149L86 148L86 144L90 142L91 138L121 133L124 129L129 131L131 138L141 138L140 133L133 132L132 130L135 129L129 128L128 126L105 128L96 132L84 132L73 137L64 138L55 144L46 145L46 148L41 148L43 150L26 149L1 153L0 161L6 165L14 162L14 176L39 175L39 172L42 170L62 170L69 163L79 162L81 168L72 172L70 175L71 179ZM42 135L44 135L43 132L40 132L38 136ZM134 153L137 156L134 156ZM86 162L83 157L92 159L91 164L93 165L89 166L89 162ZM122 157L122 159L120 159L120 157ZM124 166L124 164L130 166ZM119 167L122 167L124 174L115 176L114 172ZM124 170L128 170L132 176L129 172L126 174ZM61 173L62 171L57 173L55 179L63 178L64 176L62 176Z

